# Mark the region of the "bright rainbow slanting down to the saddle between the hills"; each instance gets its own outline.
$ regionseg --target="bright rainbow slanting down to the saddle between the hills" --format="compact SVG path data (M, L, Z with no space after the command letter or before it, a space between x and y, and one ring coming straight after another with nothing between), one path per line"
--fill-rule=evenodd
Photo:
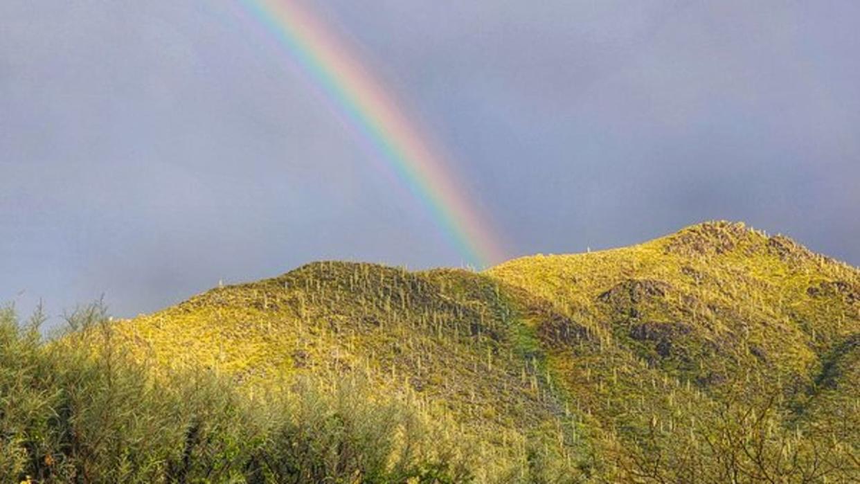
M274 34L343 119L368 142L408 191L420 199L439 229L477 268L504 259L486 217L458 186L448 162L403 115L388 89L321 21L295 0L242 0Z

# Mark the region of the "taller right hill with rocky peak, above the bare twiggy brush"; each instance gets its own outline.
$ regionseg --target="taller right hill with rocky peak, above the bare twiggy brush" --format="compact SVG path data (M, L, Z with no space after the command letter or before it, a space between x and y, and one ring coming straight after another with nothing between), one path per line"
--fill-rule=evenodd
M772 397L790 419L838 413L857 436L860 273L786 237L699 224L488 275L562 315L533 320L550 370L606 428L692 425Z

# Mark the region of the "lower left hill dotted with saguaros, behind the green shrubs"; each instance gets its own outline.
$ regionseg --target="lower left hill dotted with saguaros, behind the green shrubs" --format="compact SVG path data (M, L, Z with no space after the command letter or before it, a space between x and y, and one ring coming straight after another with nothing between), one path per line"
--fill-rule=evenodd
M157 367L203 365L251 392L303 375L369 376L380 395L443 408L458 422L451 432L574 462L583 438L515 307L481 274L318 262L207 291L119 332Z

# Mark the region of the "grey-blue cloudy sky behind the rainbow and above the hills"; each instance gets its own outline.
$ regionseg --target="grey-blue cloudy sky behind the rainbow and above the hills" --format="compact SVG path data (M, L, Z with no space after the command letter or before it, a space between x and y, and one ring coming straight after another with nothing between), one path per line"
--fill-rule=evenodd
M507 257L710 219L860 265L860 3L326 0ZM0 2L0 301L464 266L242 3ZM497 260L501 261L501 260Z

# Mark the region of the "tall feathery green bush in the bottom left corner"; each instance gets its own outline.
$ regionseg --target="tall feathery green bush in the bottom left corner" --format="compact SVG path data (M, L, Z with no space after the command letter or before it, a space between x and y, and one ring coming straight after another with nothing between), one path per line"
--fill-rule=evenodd
M40 320L20 327L12 309L0 315L0 480L241 475L239 443L254 438L254 427L217 378L186 373L157 381L109 339L89 344L88 333L109 331L101 305L70 316L80 329L48 344Z

